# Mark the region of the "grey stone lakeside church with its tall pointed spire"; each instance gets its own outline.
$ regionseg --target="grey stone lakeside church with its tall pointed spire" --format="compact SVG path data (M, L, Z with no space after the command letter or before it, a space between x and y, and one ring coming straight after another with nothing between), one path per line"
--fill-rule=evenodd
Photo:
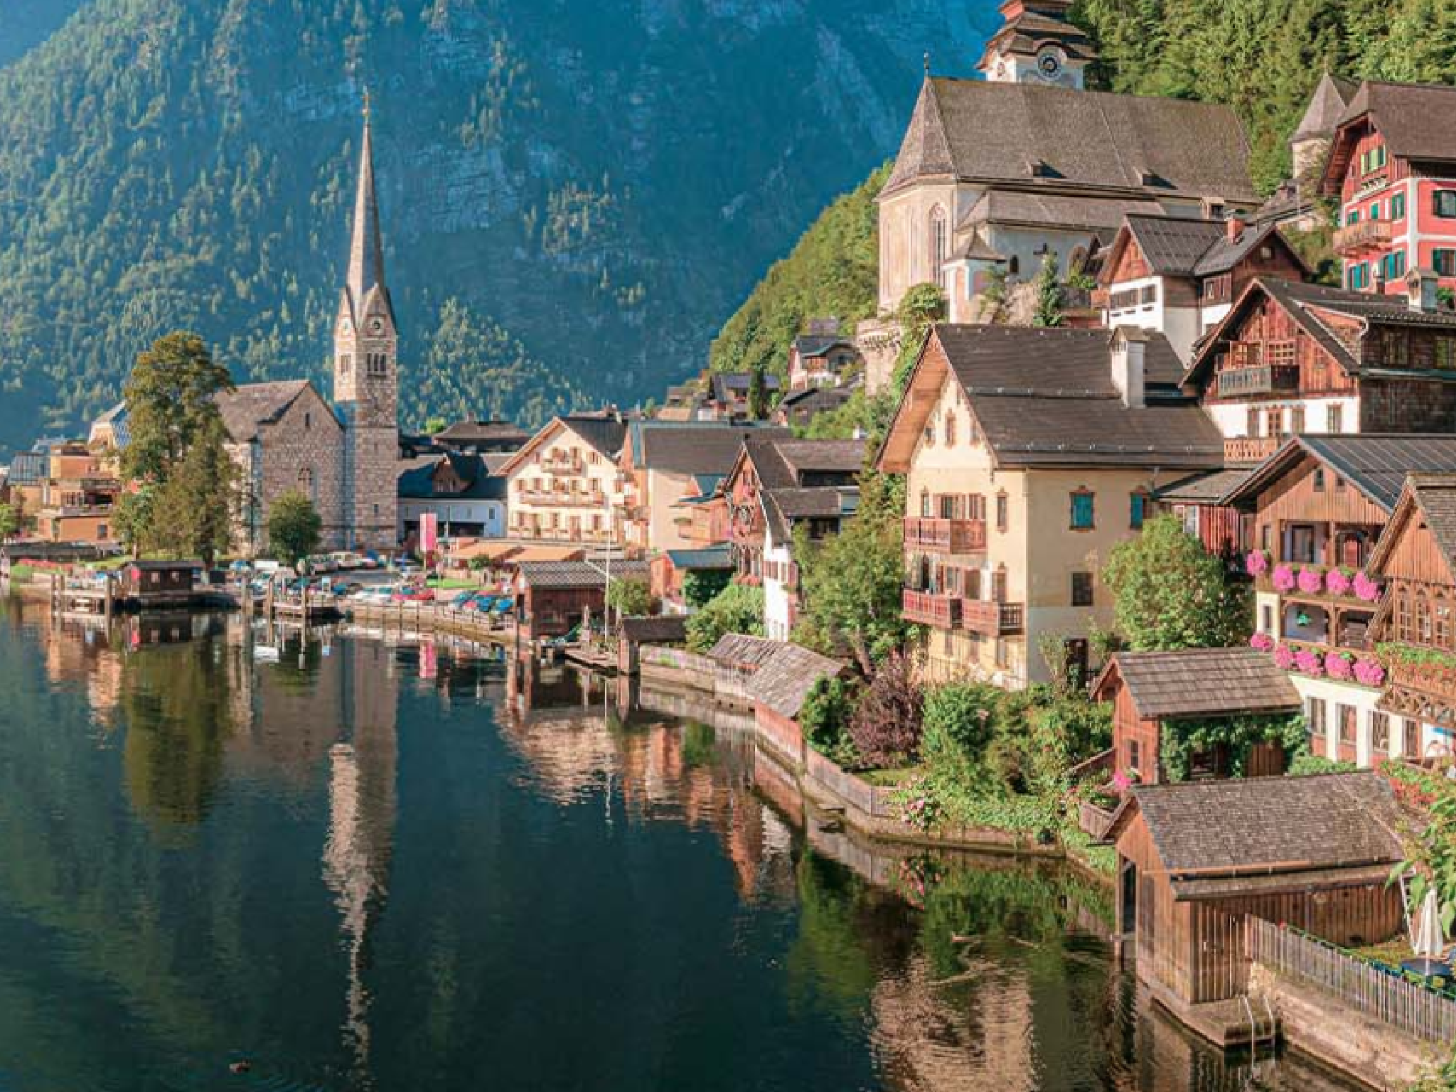
M333 402L309 380L246 383L218 402L243 472L239 549L266 547L268 513L290 491L313 501L326 549L392 550L397 536L399 329L364 109L348 268L333 326Z

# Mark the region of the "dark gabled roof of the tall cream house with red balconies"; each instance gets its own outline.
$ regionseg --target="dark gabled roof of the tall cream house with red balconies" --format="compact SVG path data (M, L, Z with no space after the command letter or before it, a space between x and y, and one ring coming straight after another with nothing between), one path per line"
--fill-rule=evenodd
M1178 355L1168 339L1146 332L1147 405L1130 408L1112 383L1109 336L1098 329L941 323L911 384L938 345L997 467L1222 467L1223 437L1178 392ZM901 400L881 451L885 469L900 472L907 464L932 409L929 397Z

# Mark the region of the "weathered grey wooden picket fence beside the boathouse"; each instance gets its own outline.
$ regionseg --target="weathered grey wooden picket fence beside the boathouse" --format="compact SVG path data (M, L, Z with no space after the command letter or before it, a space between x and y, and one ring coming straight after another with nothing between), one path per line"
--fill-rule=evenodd
M1255 962L1306 983L1358 1012L1425 1042L1456 1041L1456 1000L1345 955L1291 929L1251 916L1248 954Z

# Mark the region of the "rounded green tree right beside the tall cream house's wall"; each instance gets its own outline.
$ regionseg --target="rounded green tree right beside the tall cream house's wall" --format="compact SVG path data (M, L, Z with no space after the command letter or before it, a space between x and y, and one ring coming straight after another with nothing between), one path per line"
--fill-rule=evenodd
M1117 597L1117 626L1137 652L1222 648L1248 639L1248 591L1174 515L1112 547L1102 578Z

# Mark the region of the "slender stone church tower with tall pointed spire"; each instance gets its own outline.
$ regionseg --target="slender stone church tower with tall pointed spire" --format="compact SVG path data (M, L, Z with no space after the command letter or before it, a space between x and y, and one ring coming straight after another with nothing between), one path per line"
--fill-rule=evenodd
M333 328L333 402L344 419L348 549L399 545L399 331L384 284L368 99L348 275Z

